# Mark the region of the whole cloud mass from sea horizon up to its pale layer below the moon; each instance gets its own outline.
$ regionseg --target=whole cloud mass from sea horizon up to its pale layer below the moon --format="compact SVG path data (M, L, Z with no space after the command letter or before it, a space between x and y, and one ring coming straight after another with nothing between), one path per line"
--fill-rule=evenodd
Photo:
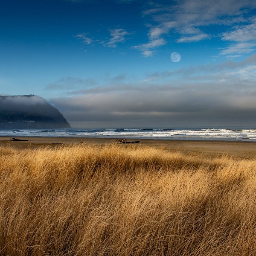
M115 85L51 99L73 127L172 127L254 125L256 55L180 70L124 84L127 75L109 78Z

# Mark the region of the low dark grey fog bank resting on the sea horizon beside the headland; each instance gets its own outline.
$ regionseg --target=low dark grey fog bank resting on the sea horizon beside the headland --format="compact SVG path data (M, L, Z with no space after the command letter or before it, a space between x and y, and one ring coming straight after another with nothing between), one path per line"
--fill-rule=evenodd
M80 122L83 127L230 125L234 118L237 125L241 121L246 125L253 124L255 119L255 90L253 93L150 87L143 92L108 91L52 99L52 102L71 124Z

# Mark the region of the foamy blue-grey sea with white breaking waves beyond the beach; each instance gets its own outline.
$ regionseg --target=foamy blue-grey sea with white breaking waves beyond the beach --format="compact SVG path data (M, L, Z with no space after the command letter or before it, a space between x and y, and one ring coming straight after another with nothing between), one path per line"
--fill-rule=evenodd
M0 130L7 137L88 137L155 140L256 141L256 127L217 128L113 128L113 129L31 129Z

